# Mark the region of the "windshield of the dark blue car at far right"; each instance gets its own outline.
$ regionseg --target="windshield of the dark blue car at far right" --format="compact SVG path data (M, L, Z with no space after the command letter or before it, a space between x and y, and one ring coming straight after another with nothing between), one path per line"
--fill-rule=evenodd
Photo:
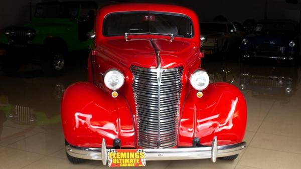
M290 23L260 23L257 24L256 33L262 34L293 34L296 28Z

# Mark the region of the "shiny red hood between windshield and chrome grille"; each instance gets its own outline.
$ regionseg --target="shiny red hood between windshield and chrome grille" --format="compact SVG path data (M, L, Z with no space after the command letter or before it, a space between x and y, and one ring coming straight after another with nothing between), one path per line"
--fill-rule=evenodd
M157 68L158 59L156 50L160 52L161 67L173 68L189 65L200 60L199 47L187 40L150 40L139 39L125 41L124 39L106 40L104 43L105 53L111 59L124 64L126 67L131 65ZM155 49L156 48L156 49Z

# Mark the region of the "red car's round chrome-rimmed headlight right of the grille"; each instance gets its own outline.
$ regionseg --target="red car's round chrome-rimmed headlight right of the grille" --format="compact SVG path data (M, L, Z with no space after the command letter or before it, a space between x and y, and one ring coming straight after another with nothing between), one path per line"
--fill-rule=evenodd
M196 70L190 77L190 84L198 91L206 89L209 85L209 76L204 70Z

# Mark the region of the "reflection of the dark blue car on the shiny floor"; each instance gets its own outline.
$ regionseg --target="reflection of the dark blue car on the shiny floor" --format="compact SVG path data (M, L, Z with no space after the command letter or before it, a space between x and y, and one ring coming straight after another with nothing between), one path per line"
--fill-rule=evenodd
M279 64L243 64L239 88L257 94L290 96L296 90L298 68Z

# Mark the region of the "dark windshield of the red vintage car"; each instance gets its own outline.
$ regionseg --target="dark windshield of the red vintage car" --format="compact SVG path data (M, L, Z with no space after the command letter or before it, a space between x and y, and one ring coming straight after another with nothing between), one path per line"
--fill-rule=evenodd
M174 34L192 38L193 26L186 16L165 13L115 13L105 18L104 36L124 36L125 33Z

